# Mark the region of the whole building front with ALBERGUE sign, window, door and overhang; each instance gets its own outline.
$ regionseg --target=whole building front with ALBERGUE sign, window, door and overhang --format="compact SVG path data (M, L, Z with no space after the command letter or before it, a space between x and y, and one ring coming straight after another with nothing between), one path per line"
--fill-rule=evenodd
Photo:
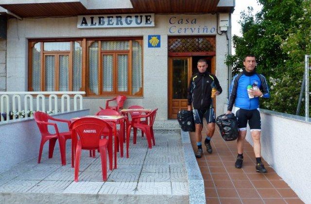
M205 58L223 87L214 102L217 115L223 113L233 0L186 0L186 5L162 0L155 8L151 0L146 5L138 0L4 1L1 90L86 91L84 107L91 113L106 99L125 95L125 107L159 108L157 119L173 119L187 108L190 76Z

